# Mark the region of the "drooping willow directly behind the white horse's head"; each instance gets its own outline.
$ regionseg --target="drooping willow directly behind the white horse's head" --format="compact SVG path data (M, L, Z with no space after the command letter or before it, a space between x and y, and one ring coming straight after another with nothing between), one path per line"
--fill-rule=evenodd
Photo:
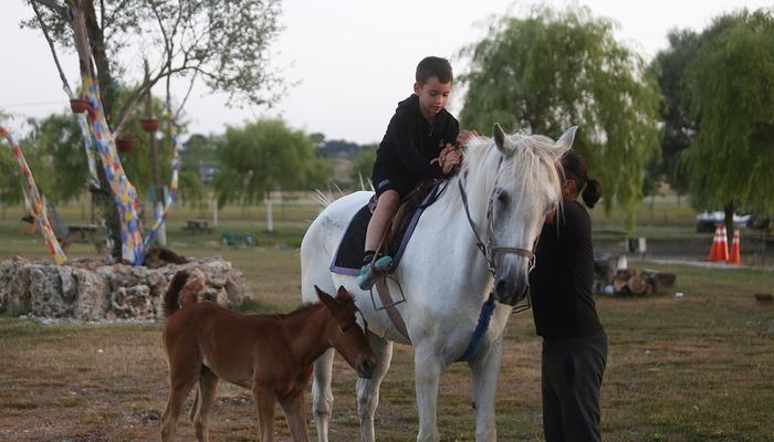
M647 161L657 156L658 87L644 60L617 42L616 24L588 9L538 9L506 17L461 52L470 59L463 127L506 127L558 137L580 126L573 147L617 201L632 232Z

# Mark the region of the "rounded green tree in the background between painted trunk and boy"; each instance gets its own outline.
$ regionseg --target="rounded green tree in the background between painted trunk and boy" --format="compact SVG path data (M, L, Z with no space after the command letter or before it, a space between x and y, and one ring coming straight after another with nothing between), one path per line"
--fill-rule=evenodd
M330 162L315 158L312 138L282 119L227 128L218 160L215 190L221 207L261 202L272 190L308 189L332 172Z

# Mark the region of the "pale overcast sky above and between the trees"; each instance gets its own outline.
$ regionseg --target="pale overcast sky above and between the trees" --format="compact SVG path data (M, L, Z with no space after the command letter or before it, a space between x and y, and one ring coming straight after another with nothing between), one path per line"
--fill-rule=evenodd
M65 108L66 97L45 40L19 21L31 17L22 0L3 0L0 17L0 109L41 117ZM328 139L366 144L381 139L396 104L411 93L414 70L425 55L449 57L456 73L458 51L484 35L492 15L526 11L534 2L513 0L284 0L284 31L272 45L273 66L297 83L273 108L229 109L226 97L195 90L186 105L190 133L219 134L261 116L280 115L295 128ZM650 60L667 48L671 29L701 30L712 18L739 8L772 7L756 0L589 0L546 1L580 4L595 17L619 23L616 36ZM71 84L76 60L64 57ZM178 87L179 97L185 87ZM163 95L158 87L155 94ZM450 110L460 110L452 96ZM552 135L552 134L546 134Z

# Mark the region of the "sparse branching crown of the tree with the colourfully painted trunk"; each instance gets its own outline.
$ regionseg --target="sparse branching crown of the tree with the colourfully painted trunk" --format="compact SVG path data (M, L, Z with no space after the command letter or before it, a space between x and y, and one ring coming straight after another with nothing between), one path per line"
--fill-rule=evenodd
M224 92L231 104L271 103L280 80L268 66L269 44L280 27L280 0L28 0L35 17L22 24L46 31L54 43L74 50L72 9L85 18L88 46L108 123L118 130L139 99L159 81L202 78ZM44 8L39 8L39 7ZM127 78L137 69L124 60L157 60L155 70ZM137 67L137 66L135 66ZM137 82L139 80L139 82ZM137 83L128 99L114 108L118 83Z

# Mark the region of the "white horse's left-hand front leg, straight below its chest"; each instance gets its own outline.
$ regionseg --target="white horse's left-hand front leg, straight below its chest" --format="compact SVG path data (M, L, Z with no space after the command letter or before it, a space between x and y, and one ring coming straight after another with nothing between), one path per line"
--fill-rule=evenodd
M421 347L415 347L414 376L417 388L417 410L419 411L419 434L417 442L437 442L438 385L441 378L441 361L438 355Z

